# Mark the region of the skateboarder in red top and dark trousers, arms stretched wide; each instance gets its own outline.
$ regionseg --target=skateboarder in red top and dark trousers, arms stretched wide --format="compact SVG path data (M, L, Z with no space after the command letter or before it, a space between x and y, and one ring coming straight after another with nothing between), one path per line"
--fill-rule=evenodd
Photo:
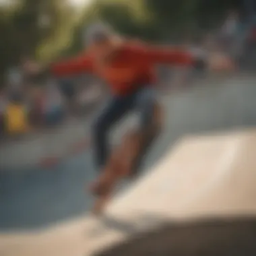
M153 46L136 40L125 40L103 24L94 24L86 33L88 47L73 59L50 67L55 77L94 73L108 84L110 100L92 125L95 164L102 170L108 159L108 133L129 111L139 113L143 133L152 121L156 103L156 64L224 69L222 59L207 58L204 53L175 47ZM226 59L225 59L226 60ZM227 60L226 60L227 61Z

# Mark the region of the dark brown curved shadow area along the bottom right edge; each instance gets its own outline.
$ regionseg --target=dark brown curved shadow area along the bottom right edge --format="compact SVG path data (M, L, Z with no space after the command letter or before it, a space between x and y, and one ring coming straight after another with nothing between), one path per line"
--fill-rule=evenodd
M253 256L256 218L166 223L94 256Z

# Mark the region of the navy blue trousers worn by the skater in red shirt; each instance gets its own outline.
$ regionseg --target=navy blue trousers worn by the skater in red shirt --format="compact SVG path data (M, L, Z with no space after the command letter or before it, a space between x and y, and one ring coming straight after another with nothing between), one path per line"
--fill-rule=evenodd
M92 137L97 168L102 168L108 158L108 133L131 110L139 113L139 129L146 129L154 111L156 93L153 88L141 88L128 96L113 96L92 125Z

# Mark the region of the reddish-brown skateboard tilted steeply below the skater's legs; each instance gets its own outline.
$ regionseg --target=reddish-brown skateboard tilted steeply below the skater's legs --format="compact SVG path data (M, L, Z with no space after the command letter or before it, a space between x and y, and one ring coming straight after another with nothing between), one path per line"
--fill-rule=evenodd
M122 179L134 179L139 173L139 167L151 148L152 143L160 134L163 123L163 113L160 104L154 106L152 124L147 131L129 131L122 139L121 145L114 150L104 170L90 187L96 197L92 212L102 214L108 201L111 199L117 183Z

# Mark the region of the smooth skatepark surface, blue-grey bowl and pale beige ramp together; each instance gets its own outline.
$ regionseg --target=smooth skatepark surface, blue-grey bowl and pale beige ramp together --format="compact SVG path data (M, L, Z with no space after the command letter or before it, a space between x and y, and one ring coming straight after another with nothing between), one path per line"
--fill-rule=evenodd
M170 222L254 218L255 81L164 97L165 130L141 177L100 218L88 214L93 198L84 191L96 176L90 152L55 170L1 173L0 255L94 255Z

